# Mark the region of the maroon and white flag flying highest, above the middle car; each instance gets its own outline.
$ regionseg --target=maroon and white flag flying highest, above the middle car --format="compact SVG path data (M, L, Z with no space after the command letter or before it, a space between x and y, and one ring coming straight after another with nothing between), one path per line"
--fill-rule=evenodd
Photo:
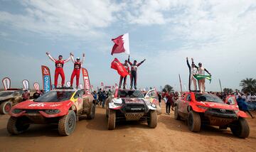
M114 46L112 48L111 55L114 53L127 53L129 54L129 33L112 39Z

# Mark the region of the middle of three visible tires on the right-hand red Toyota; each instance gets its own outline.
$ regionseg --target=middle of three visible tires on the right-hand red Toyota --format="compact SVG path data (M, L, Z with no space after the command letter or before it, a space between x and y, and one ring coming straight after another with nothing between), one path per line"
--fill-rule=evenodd
M188 113L188 129L193 132L198 132L201 129L200 115L193 110Z

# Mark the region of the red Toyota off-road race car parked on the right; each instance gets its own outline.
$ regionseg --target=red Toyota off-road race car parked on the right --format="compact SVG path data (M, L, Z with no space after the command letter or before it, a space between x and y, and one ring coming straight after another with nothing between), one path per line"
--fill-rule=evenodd
M186 119L188 129L198 132L201 124L230 127L232 133L240 138L247 138L250 129L245 118L247 114L239 110L235 97L229 96L226 103L214 94L185 92L175 103L174 118Z

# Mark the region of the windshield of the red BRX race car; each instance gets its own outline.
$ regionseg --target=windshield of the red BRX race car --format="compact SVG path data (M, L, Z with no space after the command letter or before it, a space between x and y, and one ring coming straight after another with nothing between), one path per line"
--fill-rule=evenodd
M35 99L35 102L63 102L72 97L75 91L50 91Z

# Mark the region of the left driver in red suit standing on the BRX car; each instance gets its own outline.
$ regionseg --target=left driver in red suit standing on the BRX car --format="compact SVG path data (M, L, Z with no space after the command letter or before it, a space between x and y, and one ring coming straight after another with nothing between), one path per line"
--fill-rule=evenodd
M54 87L57 87L57 85L58 85L58 75L60 75L60 77L62 79L61 80L61 87L63 87L64 84L65 84L65 74L64 74L64 71L63 71L63 65L65 63L68 63L70 58L68 58L67 60L63 60L63 56L59 55L58 60L56 60L55 58L53 58L50 55L50 53L46 53L46 55L48 55L50 60L52 60L55 63Z

